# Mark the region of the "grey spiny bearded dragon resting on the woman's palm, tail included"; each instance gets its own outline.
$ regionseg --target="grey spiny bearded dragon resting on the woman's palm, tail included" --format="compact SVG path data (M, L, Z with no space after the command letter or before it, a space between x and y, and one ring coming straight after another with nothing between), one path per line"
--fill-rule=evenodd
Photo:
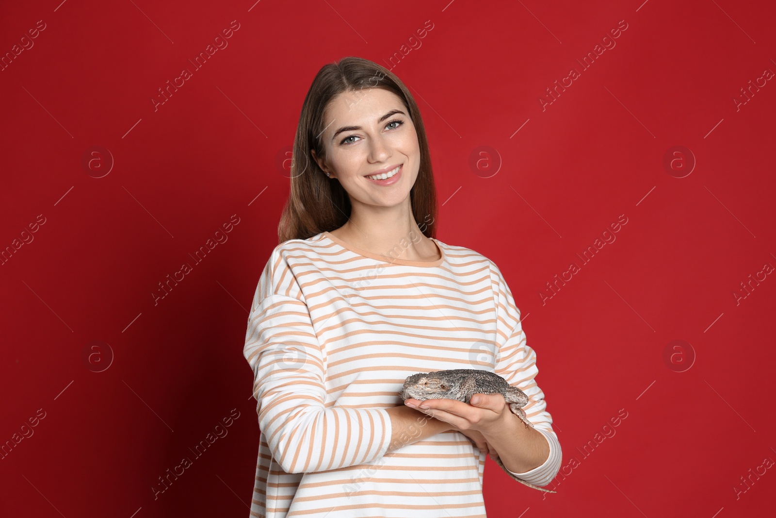
M455 399L464 403L469 403L469 400L475 394L503 395L504 402L507 403L511 412L517 415L522 422L525 422L525 426L533 427L533 423L528 421L522 408L528 404L528 396L525 395L525 392L511 386L503 377L490 372L490 370L452 369L412 374L407 376L407 379L404 381L404 387L399 392L402 401L408 398L414 398L418 401L425 401L426 399ZM554 491L540 488L538 485L530 484L512 475L504 467L504 463L501 462L501 458L498 456L494 460L507 475L521 482L521 484L539 489L539 491L554 493Z

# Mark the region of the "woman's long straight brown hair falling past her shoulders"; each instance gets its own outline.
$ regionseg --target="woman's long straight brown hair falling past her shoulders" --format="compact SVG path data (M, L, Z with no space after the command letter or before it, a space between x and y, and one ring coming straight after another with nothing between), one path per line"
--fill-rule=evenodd
M414 124L421 164L410 190L412 214L427 238L436 236L436 189L431 156L415 99L404 83L382 65L361 57L343 57L320 68L304 99L293 142L291 190L278 224L279 243L307 239L340 228L348 221L351 211L348 192L338 179L326 176L310 149L319 158L326 157L320 136L326 127L324 110L334 97L342 92L372 88L386 89L399 96Z

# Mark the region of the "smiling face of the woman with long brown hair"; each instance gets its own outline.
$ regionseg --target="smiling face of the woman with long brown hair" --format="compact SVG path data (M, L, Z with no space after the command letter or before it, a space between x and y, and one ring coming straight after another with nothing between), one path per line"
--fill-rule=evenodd
M417 134L399 96L386 89L371 88L342 92L324 112L321 135L326 148L322 161L313 157L324 172L338 179L359 204L392 207L409 204L410 189L421 163ZM393 178L370 179L377 172L393 172Z

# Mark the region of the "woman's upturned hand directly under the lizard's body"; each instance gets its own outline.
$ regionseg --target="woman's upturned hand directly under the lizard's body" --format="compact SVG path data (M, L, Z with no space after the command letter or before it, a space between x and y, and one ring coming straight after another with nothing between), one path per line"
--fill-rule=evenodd
M479 398L479 400L478 400ZM459 430L477 430L483 436L494 435L504 426L505 419L513 415L501 394L475 394L471 404L456 399L426 399L418 401L409 398L405 405L415 405L420 412L449 423ZM421 408L421 405L428 408Z

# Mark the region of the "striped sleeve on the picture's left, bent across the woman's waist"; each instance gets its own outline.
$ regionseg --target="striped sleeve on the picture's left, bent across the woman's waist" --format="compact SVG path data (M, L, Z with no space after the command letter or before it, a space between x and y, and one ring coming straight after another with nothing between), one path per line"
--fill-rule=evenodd
M374 461L390 446L390 415L331 402L327 408L326 358L298 274L276 248L251 305L244 356L255 375L259 428L286 473Z

